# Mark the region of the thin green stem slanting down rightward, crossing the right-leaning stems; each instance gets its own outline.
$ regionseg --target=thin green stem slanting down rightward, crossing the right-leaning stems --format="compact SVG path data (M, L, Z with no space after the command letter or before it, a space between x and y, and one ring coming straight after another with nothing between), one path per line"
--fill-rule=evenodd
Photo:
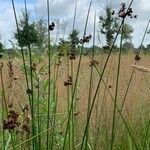
M95 65L94 65L94 66L95 66ZM101 76L101 74L100 74L100 72L99 72L99 70L97 69L96 66L95 66L95 69L96 69L96 71L98 72L99 76ZM107 91L108 91L108 93L109 93L109 95L110 95L110 97L111 97L113 103L115 104L115 99L114 99L113 95L111 94L111 92L109 91L109 89L108 89L108 87L107 87L107 84L105 83L105 81L103 80L103 78L102 78L102 82L104 83L104 85L105 85L105 87L106 87L106 89L107 89ZM136 141L135 141L135 139L134 139L134 137L133 137L133 135L132 135L132 132L130 131L130 128L128 127L128 124L127 124L125 118L123 117L122 112L121 112L121 110L119 109L119 107L118 107L117 104L116 104L116 108L117 108L117 111L118 111L119 115L121 116L121 118L122 118L122 120L123 120L123 123L125 124L125 127L126 127L128 133L129 133L129 135L130 135L130 137L131 137L131 139L132 139L132 141L133 141L135 147L136 147L136 150L138 150L139 148L138 148L138 146L137 146L137 144L136 144Z

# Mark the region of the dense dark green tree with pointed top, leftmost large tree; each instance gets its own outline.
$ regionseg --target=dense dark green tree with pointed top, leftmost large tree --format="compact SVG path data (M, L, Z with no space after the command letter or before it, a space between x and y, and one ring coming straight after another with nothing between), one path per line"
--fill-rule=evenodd
M16 31L15 38L19 46L26 47L29 44L32 46L40 46L41 38L39 38L38 31L35 24L30 22L29 14L22 13L22 18L19 23L19 33Z

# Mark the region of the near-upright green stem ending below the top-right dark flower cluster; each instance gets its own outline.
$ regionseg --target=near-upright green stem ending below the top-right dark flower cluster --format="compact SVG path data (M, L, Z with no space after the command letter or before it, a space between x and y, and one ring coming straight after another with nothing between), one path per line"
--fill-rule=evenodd
M122 40L123 40L123 30L124 30L123 29L123 25L124 25L124 19L123 19L123 23L122 23L121 40L120 40L120 50L119 50L119 58L118 58L117 81L116 81L115 103L114 103L114 109L113 109L114 112L113 112L113 122L112 122L110 150L113 149L113 143L114 143L114 139L115 139L116 105L117 105L117 99L118 99L118 87L119 87L121 55L122 55Z

